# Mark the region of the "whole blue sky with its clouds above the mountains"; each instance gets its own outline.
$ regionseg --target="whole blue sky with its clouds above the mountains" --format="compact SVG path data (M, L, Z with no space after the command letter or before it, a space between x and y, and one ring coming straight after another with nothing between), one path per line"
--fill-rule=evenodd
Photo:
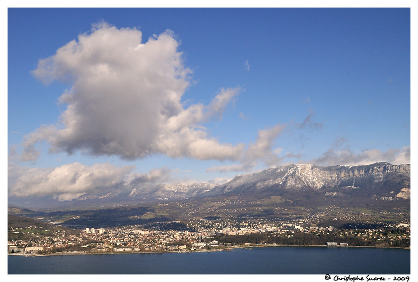
M409 9L8 9L12 196L410 163L410 114Z

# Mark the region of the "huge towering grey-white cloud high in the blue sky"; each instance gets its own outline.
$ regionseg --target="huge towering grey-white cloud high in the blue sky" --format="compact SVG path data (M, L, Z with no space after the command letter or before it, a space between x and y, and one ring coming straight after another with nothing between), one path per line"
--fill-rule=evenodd
M170 31L142 43L137 29L100 23L40 60L35 77L72 86L59 98L67 108L57 124L25 136L22 160L37 159L36 143L42 141L51 152L69 154L239 159L244 144L221 144L202 126L221 118L239 89L221 89L210 105L185 108L181 98L191 71L178 46Z

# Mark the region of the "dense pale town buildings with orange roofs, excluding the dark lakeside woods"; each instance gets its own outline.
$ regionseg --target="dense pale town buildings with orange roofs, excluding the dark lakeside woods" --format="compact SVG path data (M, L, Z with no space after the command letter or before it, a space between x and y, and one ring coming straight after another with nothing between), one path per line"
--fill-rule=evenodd
M319 221L318 221L319 222ZM401 240L410 238L410 222L398 222L389 226L402 230L400 234L388 234L383 229L338 229L333 226L314 225L312 219L282 222L265 220L205 220L192 219L187 230L159 230L143 226L117 228L86 228L77 234L55 231L50 236L33 234L31 239L8 241L8 252L13 254L49 253L117 253L153 251L198 251L221 249L233 245L221 245L214 240L215 235L248 235L252 233L274 234L293 237L295 233L335 234L336 236L360 237L362 240ZM33 227L36 228L36 227ZM14 233L19 229L10 230ZM43 230L47 231L47 230ZM334 242L328 242L333 246ZM348 244L339 244L340 246Z

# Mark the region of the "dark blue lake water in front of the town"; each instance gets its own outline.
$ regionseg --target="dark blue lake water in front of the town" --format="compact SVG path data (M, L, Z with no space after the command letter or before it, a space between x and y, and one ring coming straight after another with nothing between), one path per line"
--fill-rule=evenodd
M264 247L195 253L8 256L8 274L410 274L410 250Z

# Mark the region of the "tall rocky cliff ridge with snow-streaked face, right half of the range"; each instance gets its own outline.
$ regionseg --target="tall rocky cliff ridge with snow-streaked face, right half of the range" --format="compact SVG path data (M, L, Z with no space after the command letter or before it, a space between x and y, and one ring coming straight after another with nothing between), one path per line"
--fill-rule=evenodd
M242 194L254 191L317 191L325 196L362 194L375 197L410 198L410 164L375 163L361 166L321 167L293 164L265 169L259 173L237 175L230 182L203 194Z

